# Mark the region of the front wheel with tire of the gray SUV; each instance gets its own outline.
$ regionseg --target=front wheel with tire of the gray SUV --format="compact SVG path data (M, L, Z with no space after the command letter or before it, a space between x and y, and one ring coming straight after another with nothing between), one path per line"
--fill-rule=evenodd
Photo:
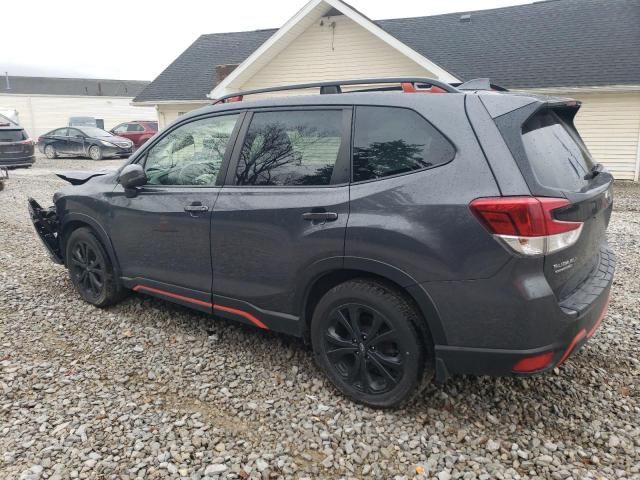
M102 308L124 298L111 259L91 229L78 228L69 235L65 260L71 283L84 301Z

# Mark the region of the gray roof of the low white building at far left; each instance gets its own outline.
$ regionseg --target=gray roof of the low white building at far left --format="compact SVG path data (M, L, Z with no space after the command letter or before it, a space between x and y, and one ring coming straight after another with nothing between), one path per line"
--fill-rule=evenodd
M9 76L9 86L0 77L0 93L32 95L89 95L135 97L149 82L141 80L105 80L97 78L55 78Z

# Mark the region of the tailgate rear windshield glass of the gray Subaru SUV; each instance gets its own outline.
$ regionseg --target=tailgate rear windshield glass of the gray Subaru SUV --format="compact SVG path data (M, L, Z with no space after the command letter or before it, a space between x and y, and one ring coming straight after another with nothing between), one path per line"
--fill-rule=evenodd
M578 132L557 113L536 113L522 127L522 142L540 185L580 190L594 163Z

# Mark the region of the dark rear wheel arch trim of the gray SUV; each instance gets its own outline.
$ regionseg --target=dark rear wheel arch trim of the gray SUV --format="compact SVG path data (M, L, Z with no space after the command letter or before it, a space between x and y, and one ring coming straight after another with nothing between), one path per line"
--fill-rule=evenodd
M316 264L317 265L317 264ZM345 258L342 265L325 261L322 265L329 268L311 268L311 274L299 299L303 337L308 340L309 327L313 311L322 296L334 286L353 280L365 278L379 281L403 294L420 312L424 325L418 325L425 341L432 344L446 344L444 329L438 310L427 291L408 274L391 265L364 258ZM330 268L332 267L332 268Z

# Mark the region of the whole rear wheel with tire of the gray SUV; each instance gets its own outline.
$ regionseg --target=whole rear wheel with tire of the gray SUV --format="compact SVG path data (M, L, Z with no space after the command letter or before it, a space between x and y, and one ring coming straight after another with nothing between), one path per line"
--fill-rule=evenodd
M416 308L382 282L342 283L313 313L316 362L345 396L370 407L398 407L419 391L425 374L420 321Z

